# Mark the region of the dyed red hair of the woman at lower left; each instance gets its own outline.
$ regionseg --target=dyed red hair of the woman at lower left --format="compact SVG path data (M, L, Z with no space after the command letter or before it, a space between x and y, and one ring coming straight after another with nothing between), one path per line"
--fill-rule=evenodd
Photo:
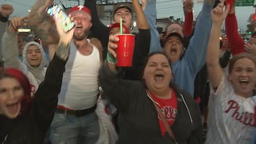
M24 91L24 96L21 99L21 115L29 115L31 106L32 106L32 98L30 96L30 83L28 78L19 70L14 68L0 68L0 80L2 78L16 78L20 82L21 87Z

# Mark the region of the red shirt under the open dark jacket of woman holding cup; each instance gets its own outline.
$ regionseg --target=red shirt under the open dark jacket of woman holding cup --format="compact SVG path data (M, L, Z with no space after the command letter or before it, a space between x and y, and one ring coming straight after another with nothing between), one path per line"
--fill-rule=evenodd
M172 124L174 123L174 120L176 118L177 106L178 106L177 98L176 98L176 94L175 94L174 90L172 89L172 98L170 98L170 99L161 99L161 98L156 97L152 93L151 93L151 95L152 95L152 98L154 99L154 101L160 105L160 108L162 109L162 112L163 112L168 124L170 126L172 126ZM162 122L162 120L160 119L159 116L158 116L158 121L160 124L162 136L164 136L164 134L166 133L166 128L164 127L164 123Z

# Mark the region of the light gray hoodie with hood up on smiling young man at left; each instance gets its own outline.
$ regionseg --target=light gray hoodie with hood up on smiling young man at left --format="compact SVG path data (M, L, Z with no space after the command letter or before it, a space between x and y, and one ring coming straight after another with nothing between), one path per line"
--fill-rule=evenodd
M42 54L41 64L38 68L33 68L26 59L28 46L36 45ZM46 57L42 46L36 42L29 42L23 50L23 62L18 59L18 36L6 31L2 36L2 56L5 67L12 67L21 70L27 77L31 85L32 95L36 92L39 84L44 80L47 68Z

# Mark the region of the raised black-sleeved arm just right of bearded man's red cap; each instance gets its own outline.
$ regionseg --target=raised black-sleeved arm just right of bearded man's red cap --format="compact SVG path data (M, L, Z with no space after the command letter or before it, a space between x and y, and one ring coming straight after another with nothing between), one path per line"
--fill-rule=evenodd
M106 48L108 47L108 37L109 37L109 31L110 28L105 26L99 19L97 8L96 8L96 0L85 0L84 1L84 6L89 8L91 10L92 14L92 27L91 27L91 32L93 36L98 38L100 42L102 43L102 46L104 49L104 53L106 54L107 50Z

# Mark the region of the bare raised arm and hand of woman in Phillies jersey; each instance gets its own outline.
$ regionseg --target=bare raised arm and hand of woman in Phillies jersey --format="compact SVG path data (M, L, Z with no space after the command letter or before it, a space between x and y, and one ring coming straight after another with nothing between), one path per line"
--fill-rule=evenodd
M214 88L218 87L223 76L222 68L219 64L219 49L220 49L220 30L223 21L225 20L228 11L229 5L224 8L224 0L221 0L221 3L212 10L212 31L210 35L210 40L208 43L207 51L207 70L210 82Z

